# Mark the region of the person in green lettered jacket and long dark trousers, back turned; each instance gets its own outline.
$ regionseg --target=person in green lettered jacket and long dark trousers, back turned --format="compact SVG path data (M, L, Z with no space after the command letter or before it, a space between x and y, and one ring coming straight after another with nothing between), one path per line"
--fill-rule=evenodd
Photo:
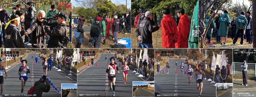
M245 33L245 29L246 29L246 25L247 25L247 20L244 16L244 12L242 11L240 13L240 16L237 17L237 29L236 29L236 35L234 37L234 40L233 40L233 44L232 45L235 45L237 40L238 40L238 37L239 35L241 34L241 41L240 41L240 44L242 45L244 43L244 33Z

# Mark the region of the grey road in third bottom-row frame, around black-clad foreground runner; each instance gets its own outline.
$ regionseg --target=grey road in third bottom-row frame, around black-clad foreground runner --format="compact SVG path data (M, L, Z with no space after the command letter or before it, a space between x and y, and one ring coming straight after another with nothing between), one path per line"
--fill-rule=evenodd
M167 74L166 66L160 68L159 74L155 74L155 82L161 86L161 96L163 95L172 95L177 97L196 97L199 96L199 91L197 90L196 81L194 74L191 77L191 83L188 84L187 74L182 75L180 65L181 62L184 63L184 59L177 59L178 65L176 67L176 59L169 59L170 64L169 74ZM165 64L166 65L166 64ZM175 75L177 68L177 74ZM185 69L187 67L185 66ZM163 70L165 73L163 74ZM195 69L194 69L195 71ZM212 91L214 90L214 91ZM203 81L203 91L201 97L216 97L216 87L208 82L207 80Z

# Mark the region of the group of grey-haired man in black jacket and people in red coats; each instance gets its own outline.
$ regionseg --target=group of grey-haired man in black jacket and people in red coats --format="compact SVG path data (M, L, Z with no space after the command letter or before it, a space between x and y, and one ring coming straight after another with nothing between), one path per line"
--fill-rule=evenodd
M159 30L160 27L162 27L162 48L188 48L190 19L183 8L178 8L176 11L177 16L180 18L178 27L170 15L169 8L163 9L161 24L155 27L153 27L155 22L152 12L142 7L139 11L140 14L134 20L134 25L137 27L138 48L153 48L152 33Z

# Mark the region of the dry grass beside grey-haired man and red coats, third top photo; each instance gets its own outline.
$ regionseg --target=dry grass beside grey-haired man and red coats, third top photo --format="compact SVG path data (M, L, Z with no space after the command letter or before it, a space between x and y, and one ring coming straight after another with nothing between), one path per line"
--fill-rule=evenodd
M134 25L131 25L131 48L137 48L137 37L136 37L135 30L136 30L136 27ZM162 48L162 38L161 37L162 37L162 28L160 28L158 30L158 35L157 35L157 31L152 33L152 40L153 40L154 48ZM156 44L156 40L157 40L157 44Z

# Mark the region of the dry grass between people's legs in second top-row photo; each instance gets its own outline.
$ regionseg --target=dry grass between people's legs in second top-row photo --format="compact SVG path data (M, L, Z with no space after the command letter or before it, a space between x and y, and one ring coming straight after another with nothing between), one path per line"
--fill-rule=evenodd
M127 32L127 30L126 30ZM72 30L72 34L74 33L74 30ZM89 38L90 38L90 33L84 33L84 43L81 45L81 48L89 48L88 44L89 44ZM103 45L103 38L101 40L101 44L100 44L100 48L112 48L114 46L114 40L112 40L113 38L113 34L112 34L112 30L109 30L109 38L106 39L106 43L105 45ZM127 39L131 39L130 34L124 34L124 31L122 31L122 33L118 32L117 35L117 39L122 39L122 38L127 38ZM76 38L73 37L72 35L72 47L75 48L76 47ZM91 46L91 45L90 45Z

